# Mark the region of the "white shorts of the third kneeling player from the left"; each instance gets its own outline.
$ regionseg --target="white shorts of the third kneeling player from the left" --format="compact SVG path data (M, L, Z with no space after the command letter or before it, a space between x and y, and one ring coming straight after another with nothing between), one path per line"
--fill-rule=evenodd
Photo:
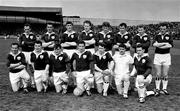
M65 72L53 72L54 85L60 85L62 82L68 82L68 75Z

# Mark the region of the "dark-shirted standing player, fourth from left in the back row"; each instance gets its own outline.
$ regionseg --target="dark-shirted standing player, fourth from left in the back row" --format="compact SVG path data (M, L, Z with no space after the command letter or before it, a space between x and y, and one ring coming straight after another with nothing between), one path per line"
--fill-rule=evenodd
M91 30L92 23L88 20L83 23L84 30L79 35L79 41L84 41L86 43L86 49L90 51L92 54L95 52L95 33Z

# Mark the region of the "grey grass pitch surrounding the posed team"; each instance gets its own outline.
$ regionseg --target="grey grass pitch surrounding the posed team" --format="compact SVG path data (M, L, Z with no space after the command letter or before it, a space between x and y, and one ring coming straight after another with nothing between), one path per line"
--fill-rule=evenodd
M180 109L180 41L175 41L170 69L169 92L171 95L149 97L146 103L137 102L137 93L133 92L124 100L117 94L102 97L93 93L91 97L75 97L70 91L67 95L50 91L38 94L13 93L9 83L8 70L5 66L9 45L15 39L0 39L0 111L178 111ZM153 48L150 55L153 58ZM150 85L154 88L154 81Z

